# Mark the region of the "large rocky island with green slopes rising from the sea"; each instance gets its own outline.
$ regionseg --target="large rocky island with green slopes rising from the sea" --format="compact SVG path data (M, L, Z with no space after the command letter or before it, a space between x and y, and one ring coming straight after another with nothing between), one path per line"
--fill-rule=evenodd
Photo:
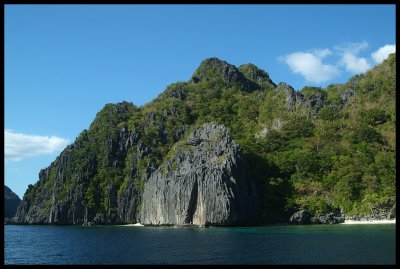
M394 219L395 100L395 54L345 84L299 91L253 64L205 59L144 106L106 104L40 171L16 214L17 200L5 200L6 217L155 226Z

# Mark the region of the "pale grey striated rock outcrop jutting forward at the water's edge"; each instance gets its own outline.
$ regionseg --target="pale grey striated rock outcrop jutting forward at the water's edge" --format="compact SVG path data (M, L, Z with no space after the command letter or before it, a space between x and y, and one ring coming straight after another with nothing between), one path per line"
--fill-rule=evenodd
M144 185L141 223L256 223L259 194L224 126L204 124L173 149Z

